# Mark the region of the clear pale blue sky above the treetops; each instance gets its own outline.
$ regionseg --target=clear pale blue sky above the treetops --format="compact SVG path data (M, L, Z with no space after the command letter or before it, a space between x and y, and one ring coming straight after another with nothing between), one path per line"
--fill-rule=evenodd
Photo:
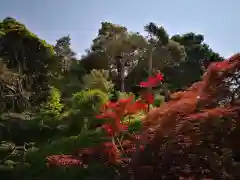
M90 47L101 22L144 32L154 22L169 35L195 32L224 57L240 51L238 0L0 0L0 20L13 17L50 44L72 38L79 55Z

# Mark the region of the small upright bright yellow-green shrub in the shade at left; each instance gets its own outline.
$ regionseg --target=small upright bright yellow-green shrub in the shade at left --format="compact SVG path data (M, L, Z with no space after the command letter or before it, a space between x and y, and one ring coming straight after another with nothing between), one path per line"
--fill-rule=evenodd
M48 101L43 104L40 109L40 119L42 122L56 121L60 119L64 107L60 101L60 91L57 88L52 87L50 89Z

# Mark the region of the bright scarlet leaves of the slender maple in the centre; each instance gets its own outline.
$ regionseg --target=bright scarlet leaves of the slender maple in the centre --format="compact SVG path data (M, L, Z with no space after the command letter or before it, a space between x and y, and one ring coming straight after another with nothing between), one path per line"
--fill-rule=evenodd
M161 73L156 74L154 77L149 77L147 82L141 82L141 87L155 87L163 80L163 75ZM149 105L153 104L154 95L152 93L143 93L139 100L134 101L134 97L131 96L126 99L120 99L117 102L108 102L102 109L101 114L97 116L100 119L108 119L108 122L102 126L106 134L118 139L118 135L124 131L128 130L128 125L122 123L122 119L126 115L132 115L142 110L149 109ZM109 158L112 161L112 157L116 154L116 145L113 142L108 143L108 151L111 155ZM119 139L118 139L119 142ZM121 143L121 142L119 142ZM121 146L121 144L120 144Z

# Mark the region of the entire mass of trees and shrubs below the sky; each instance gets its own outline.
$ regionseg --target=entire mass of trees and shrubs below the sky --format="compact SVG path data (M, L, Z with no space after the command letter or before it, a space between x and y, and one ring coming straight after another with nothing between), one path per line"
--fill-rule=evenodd
M0 21L1 179L240 178L240 55L144 30L102 22L77 59Z

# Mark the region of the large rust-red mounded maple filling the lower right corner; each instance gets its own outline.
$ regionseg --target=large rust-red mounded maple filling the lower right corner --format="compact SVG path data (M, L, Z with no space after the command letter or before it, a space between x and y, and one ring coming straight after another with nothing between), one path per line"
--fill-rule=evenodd
M132 179L239 179L234 153L240 152L240 101L228 101L232 92L225 83L236 71L240 54L211 64L202 81L148 113L140 138L144 151L128 167ZM150 169L147 177L143 167Z

